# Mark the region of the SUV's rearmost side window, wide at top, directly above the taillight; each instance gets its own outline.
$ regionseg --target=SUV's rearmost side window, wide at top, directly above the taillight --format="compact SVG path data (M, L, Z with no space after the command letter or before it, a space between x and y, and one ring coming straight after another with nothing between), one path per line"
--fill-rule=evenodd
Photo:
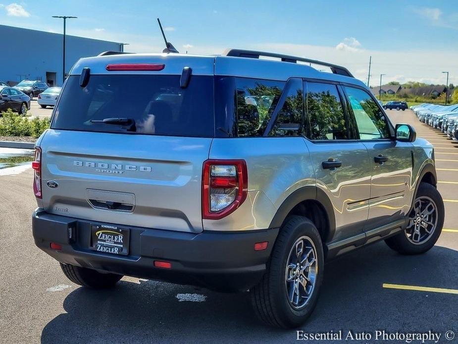
M237 134L239 137L262 136L285 82L238 78L236 83Z

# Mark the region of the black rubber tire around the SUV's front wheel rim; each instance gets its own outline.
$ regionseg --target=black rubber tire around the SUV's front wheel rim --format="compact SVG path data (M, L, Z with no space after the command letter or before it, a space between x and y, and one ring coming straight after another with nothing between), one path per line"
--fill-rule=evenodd
M433 185L422 182L418 187L418 192L413 202L415 202L419 197L428 197L435 203L437 212L437 223L432 235L429 238L427 238L427 240L425 240L423 243L414 244L411 241L409 241L409 239L407 238L406 230L403 230L395 236L392 236L385 240L385 242L391 249L401 254L411 255L427 252L434 246L437 239L439 239L439 236L442 232L442 226L444 226L444 202L442 201L442 197L439 191L437 191L437 189ZM414 214L413 209L412 212ZM412 212L409 214L409 216L412 215Z

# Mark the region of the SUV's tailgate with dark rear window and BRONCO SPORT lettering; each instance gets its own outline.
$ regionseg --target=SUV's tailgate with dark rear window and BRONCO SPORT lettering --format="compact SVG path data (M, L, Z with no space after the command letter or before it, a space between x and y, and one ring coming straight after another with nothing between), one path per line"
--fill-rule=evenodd
M184 67L192 68L185 85ZM70 74L40 143L45 210L201 232L202 168L214 137L214 57L90 57Z

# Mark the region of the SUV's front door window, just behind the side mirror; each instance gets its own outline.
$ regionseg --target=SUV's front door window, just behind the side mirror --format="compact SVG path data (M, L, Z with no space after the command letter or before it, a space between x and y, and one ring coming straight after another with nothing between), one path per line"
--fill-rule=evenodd
M359 88L345 87L350 107L355 115L361 140L386 139L390 130L385 115L372 97Z

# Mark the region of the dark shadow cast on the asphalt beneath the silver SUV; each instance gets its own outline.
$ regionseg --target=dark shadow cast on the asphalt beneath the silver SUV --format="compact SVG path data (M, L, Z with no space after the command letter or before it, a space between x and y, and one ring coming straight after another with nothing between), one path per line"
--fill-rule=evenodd
M315 312L302 327L339 330L458 330L453 294L382 288L383 283L456 288L458 252L435 246L421 256L401 256L383 242L325 266ZM180 302L178 293L206 295ZM80 287L64 300L65 314L43 329L42 343L192 343L296 341L295 330L260 324L248 293L225 294L153 281L121 281L105 291Z

